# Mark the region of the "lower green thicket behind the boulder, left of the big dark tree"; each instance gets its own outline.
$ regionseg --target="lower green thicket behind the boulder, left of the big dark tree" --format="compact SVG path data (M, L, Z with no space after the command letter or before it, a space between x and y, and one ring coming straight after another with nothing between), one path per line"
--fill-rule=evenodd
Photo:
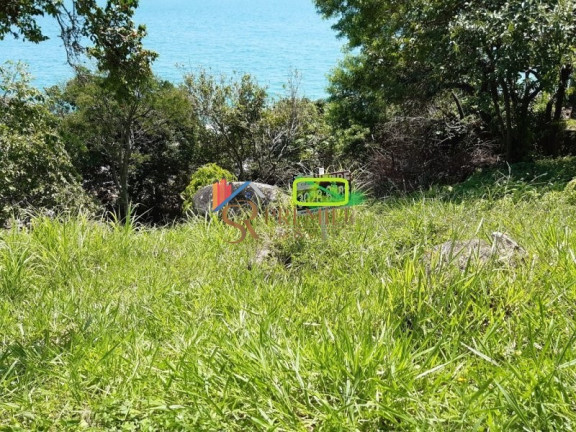
M292 174L336 157L322 103L298 97L296 83L286 98L270 101L248 75L233 81L202 73L187 76L181 86L151 77L138 97L118 99L102 75L84 69L45 94L29 87L22 65L7 64L0 74L6 133L33 125L50 137L51 151L41 150L33 134L23 136L22 145L41 152L37 163L58 163L42 168L56 181L32 169L33 160L5 141L1 167L11 176L0 194L18 199L6 198L11 205L0 212L0 222L11 214L22 217L29 207L62 210L55 195L41 192L52 188L58 195L71 187L86 196L70 209L85 208L91 199L97 213L125 215L137 205L145 220L167 222L183 214L191 175L205 164L217 162L241 180L287 185ZM60 173L64 169L68 177ZM41 183L16 179L28 174Z

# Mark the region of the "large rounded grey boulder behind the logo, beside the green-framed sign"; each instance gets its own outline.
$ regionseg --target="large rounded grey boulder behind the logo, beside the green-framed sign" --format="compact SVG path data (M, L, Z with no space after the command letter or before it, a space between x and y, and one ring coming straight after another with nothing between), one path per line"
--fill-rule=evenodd
M244 182L232 182L232 190L236 190L243 184ZM232 203L242 200L251 200L263 208L272 203L281 202L284 199L286 199L286 195L280 190L280 188L265 183L252 182L232 200ZM210 213L212 211L212 185L200 188L192 200L194 202L194 210L196 213L203 216Z

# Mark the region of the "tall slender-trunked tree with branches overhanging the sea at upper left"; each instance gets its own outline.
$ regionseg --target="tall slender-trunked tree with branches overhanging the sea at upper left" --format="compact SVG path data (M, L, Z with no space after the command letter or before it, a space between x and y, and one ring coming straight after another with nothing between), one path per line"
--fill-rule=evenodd
M138 0L107 0L101 7L96 0L75 0L70 7L61 1L18 0L0 7L0 37L7 33L33 42L45 39L36 17L48 14L55 17L70 55L85 52L96 60L103 76L99 85L105 88L123 108L119 135L109 143L108 153L117 157L117 179L120 187L120 208L127 213L130 202L128 179L135 148L135 127L142 92L153 79L151 64L157 54L144 49L144 26L132 21ZM84 50L79 41L88 38L92 46ZM82 69L78 69L82 72Z

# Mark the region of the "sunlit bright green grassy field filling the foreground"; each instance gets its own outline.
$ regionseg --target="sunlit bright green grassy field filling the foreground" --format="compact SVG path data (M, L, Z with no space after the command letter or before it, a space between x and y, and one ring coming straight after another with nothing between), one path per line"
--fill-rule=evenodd
M253 266L217 221L3 231L0 430L574 430L574 175L480 173ZM526 261L422 262L493 231Z

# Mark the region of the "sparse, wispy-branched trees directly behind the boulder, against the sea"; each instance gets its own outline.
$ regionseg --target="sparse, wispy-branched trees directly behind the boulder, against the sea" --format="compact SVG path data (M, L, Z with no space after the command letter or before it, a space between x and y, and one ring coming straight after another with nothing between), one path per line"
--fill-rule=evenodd
M298 96L298 77L287 95L271 102L249 75L220 80L206 72L185 78L199 131L202 158L231 168L240 179L282 183L302 165L328 165L335 140L324 107Z

